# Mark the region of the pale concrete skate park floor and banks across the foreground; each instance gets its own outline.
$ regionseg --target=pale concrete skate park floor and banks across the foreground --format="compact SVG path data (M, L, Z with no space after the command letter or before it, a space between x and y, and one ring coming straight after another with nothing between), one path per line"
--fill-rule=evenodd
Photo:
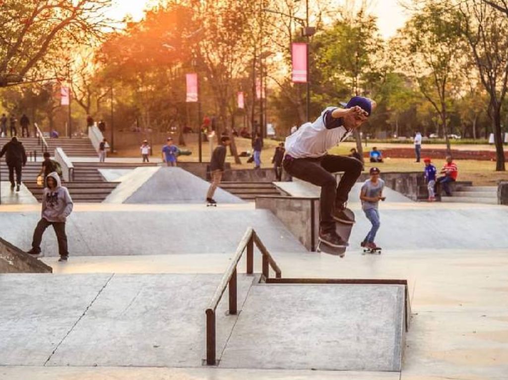
M273 215L251 203L216 209L76 204L69 219L68 263L56 262L50 231L42 260L54 274L0 275L0 304L8 305L0 308L0 335L7 337L0 339L0 378L508 378L508 209L415 203L387 191L377 239L383 254L362 255L359 243L369 224L355 200L358 186L348 205L358 222L343 259L307 252ZM0 212L2 236L27 249L40 206L2 205ZM372 304L365 310L377 310L374 314L344 314L338 306L358 297L351 291L341 295L336 287L279 285L268 291L268 285L252 285L252 278L240 274L244 259L238 266L242 311L238 318L226 316L221 302L221 362L202 366L205 304L246 226L259 232L283 277L407 279L412 317L402 370L374 366L387 363L379 342L363 353L348 343L355 353L350 356L330 343L337 329L368 330L369 321L382 320L388 310ZM255 272L260 261L255 256ZM369 304L387 297L376 291L363 289ZM183 311L174 306L177 301ZM288 302L292 308L281 307ZM317 333L307 336L309 331ZM298 350L282 344L294 342L291 338ZM172 344L179 349L172 350ZM322 349L329 356L317 355ZM340 370L348 358L363 367Z

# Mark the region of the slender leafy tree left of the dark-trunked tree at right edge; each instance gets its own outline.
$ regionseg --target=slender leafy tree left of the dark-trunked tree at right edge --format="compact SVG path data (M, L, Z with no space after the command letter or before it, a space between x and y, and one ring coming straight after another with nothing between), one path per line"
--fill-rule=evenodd
M457 15L444 4L427 1L392 43L400 67L412 74L420 91L439 115L450 154L447 124L450 81L463 50Z

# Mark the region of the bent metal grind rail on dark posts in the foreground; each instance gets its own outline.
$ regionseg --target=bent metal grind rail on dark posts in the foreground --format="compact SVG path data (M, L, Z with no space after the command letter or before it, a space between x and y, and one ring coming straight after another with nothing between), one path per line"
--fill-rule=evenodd
M216 357L216 344L215 344L215 309L217 308L220 299L222 298L224 292L226 291L226 287L229 289L229 314L235 315L237 314L237 271L236 267L238 262L240 261L243 252L247 249L247 274L252 274L254 269L254 245L258 247L259 251L263 256L263 265L262 265L262 279L265 281L270 277L270 266L275 272L275 277L280 279L282 277L282 272L278 267L275 260L273 260L272 256L256 234L256 231L252 229L252 227L247 228L245 234L243 235L240 243L235 252L235 256L232 259L228 270L223 275L223 278L220 280L215 293L213 294L212 299L208 303L208 307L206 308L206 364L207 365L215 365L215 357Z

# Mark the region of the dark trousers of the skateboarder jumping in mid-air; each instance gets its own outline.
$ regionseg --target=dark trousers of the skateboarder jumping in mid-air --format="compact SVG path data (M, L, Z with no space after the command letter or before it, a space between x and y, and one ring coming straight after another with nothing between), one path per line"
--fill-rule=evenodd
M285 158L284 170L291 176L321 186L320 215L321 231L335 231L332 214L335 202L347 201L347 196L362 172L362 163L356 158L325 155L319 158ZM343 171L339 185L332 173Z

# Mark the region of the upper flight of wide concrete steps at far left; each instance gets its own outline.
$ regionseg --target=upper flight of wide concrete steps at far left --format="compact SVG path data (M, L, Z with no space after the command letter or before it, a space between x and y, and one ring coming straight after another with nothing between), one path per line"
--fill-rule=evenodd
M19 137L25 147L26 153L37 151L37 157L42 157L43 147L41 141L37 137ZM11 140L10 137L1 137L0 145L3 146ZM48 143L48 152L53 155L55 148L60 147L63 151L71 157L95 157L97 156L96 150L93 148L92 143L88 137L59 137L58 139L46 138ZM42 160L42 158L41 158Z

